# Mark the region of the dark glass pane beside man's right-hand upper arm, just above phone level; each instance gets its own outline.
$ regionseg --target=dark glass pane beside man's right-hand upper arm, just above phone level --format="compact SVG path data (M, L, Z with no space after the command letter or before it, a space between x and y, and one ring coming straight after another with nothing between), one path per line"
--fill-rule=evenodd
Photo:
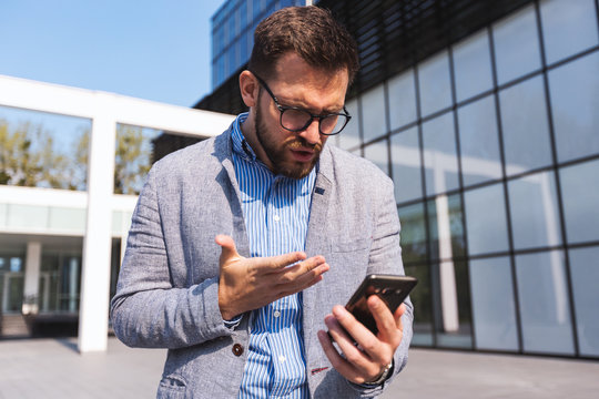
M402 223L400 245L404 264L426 260L426 219L424 204L413 204L397 208Z

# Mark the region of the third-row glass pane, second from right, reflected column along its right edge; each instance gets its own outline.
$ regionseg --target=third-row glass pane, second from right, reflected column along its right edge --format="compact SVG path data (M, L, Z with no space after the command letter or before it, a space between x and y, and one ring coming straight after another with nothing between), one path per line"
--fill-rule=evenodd
M511 181L508 192L515 249L561 244L554 172Z

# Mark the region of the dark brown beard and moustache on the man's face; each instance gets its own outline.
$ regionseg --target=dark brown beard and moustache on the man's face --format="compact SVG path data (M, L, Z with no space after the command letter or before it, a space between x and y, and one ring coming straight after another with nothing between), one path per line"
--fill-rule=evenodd
M258 103L260 95L258 94ZM268 127L263 120L260 106L256 106L256 119L254 121L254 129L256 132L256 139L264 149L266 156L273 165L273 172L291 178L303 178L312 172L323 150L323 144L309 144L304 137L296 135L293 132L290 137L283 142L277 142L272 133L268 132ZM314 151L314 157L309 162L298 162L291 157L290 150L311 149Z

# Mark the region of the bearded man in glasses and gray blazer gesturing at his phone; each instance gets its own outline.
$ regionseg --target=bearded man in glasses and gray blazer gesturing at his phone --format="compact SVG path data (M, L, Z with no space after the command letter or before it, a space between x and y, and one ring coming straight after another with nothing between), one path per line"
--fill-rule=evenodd
M114 331L169 348L160 398L375 397L407 360L412 305L372 296L377 336L341 306L367 274L403 274L393 183L325 145L349 120L355 43L316 7L275 12L254 42L250 112L149 174Z

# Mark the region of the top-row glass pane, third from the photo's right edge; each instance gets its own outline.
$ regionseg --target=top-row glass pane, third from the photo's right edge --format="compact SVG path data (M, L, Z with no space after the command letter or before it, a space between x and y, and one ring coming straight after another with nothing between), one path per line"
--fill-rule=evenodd
M493 88L487 30L473 34L454 47L454 72L458 102Z

